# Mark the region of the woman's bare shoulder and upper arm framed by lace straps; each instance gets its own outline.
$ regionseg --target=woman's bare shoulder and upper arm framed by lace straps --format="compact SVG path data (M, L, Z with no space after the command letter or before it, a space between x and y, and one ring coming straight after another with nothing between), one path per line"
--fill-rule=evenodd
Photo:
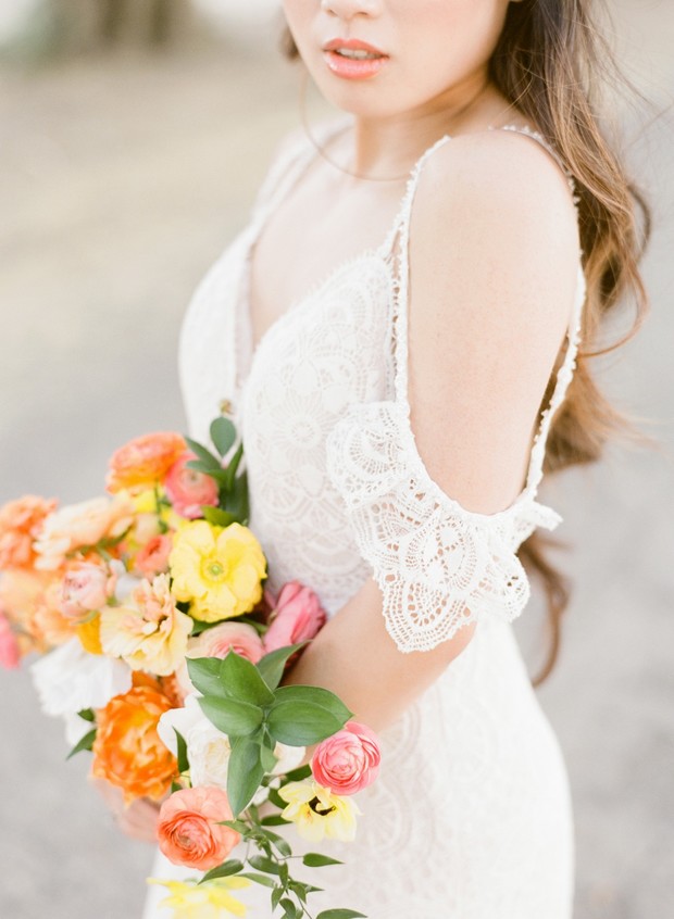
M575 302L578 227L564 172L510 131L442 144L420 175L409 260L419 449L458 501L502 509L522 488Z

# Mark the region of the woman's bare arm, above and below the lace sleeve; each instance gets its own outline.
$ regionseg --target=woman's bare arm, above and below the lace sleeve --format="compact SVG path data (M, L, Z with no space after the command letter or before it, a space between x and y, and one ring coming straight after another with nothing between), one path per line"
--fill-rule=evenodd
M506 131L440 148L421 175L410 230L410 404L433 479L492 514L523 488L538 410L575 295L578 236L554 161ZM359 720L395 721L466 647L467 624L402 653L369 580L286 682L333 690Z

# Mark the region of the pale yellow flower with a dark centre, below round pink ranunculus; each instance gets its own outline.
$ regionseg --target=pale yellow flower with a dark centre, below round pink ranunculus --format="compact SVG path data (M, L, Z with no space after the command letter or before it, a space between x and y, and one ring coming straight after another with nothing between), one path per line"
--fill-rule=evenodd
M354 839L355 815L361 811L350 797L333 794L312 779L289 782L278 794L288 802L280 816L291 820L303 839L310 842L325 838L341 842Z

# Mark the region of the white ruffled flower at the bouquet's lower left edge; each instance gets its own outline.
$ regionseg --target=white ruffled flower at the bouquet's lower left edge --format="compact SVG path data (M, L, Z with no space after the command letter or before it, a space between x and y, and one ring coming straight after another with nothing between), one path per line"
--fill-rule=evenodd
M78 638L50 651L29 670L46 715L68 716L83 708L103 708L113 696L132 688L132 671L126 664L88 654Z

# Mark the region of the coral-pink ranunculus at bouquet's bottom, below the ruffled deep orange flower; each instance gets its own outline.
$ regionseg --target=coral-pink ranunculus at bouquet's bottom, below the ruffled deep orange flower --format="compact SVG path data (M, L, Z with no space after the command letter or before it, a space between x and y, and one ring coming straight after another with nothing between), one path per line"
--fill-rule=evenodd
M224 861L241 839L221 820L232 820L226 793L214 785L183 789L166 798L159 811L159 847L168 861L209 871Z

